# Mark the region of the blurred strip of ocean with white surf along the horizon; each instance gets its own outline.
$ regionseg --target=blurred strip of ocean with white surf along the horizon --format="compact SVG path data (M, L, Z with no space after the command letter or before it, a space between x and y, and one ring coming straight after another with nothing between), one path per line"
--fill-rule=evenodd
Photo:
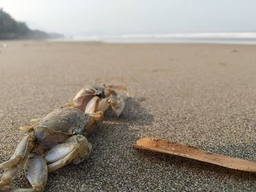
M214 43L256 45L256 32L248 33L196 33L196 34L122 34L92 35L57 39L75 42L115 43Z

